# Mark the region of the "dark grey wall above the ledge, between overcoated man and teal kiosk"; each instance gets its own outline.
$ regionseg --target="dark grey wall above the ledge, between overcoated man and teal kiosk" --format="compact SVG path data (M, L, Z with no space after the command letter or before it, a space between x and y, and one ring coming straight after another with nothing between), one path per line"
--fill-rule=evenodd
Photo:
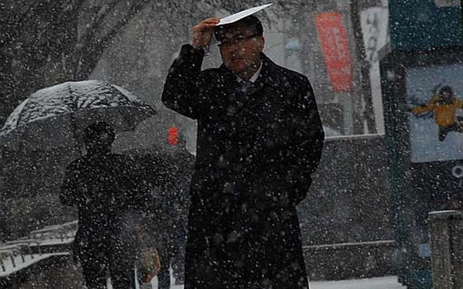
M298 206L304 245L391 240L383 135L325 141L307 198Z

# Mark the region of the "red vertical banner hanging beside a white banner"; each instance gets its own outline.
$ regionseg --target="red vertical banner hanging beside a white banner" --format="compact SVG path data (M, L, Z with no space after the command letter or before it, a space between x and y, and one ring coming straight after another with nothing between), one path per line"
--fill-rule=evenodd
M328 76L334 92L352 92L352 61L342 14L324 12L315 16Z

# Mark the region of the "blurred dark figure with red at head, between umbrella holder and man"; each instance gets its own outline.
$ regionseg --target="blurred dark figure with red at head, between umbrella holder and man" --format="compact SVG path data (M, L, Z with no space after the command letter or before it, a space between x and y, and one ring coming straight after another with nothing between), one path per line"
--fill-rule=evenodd
M152 191L146 223L160 256L159 289L170 288L170 273L176 285L184 281L188 188L195 159L186 149L180 128L168 127L165 137L167 146L158 143L127 152Z

